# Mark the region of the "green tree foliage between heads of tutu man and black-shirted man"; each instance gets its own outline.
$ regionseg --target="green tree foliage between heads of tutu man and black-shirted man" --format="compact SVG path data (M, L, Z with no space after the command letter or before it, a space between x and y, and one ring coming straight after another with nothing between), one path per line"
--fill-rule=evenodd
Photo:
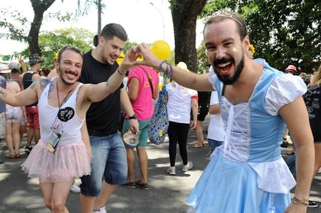
M43 32L39 35L39 47L42 51L42 66L52 69L54 67L53 58L56 52L62 47L72 45L82 50L83 53L93 48L92 40L94 33L83 28L68 28L54 30L53 32ZM23 50L20 55L28 58L29 49Z

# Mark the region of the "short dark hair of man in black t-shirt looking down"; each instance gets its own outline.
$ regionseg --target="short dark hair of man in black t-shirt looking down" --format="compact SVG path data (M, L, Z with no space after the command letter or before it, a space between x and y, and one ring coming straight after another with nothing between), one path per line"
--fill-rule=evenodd
M105 40L112 40L114 36L122 41L127 41L128 38L125 29L121 25L114 23L106 25L100 36L104 37Z

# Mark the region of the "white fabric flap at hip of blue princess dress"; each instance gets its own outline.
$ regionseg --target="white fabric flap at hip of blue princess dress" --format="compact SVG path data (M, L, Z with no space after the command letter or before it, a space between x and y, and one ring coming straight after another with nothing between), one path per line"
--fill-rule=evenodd
M287 194L296 184L283 158L271 162L250 163L258 174L258 188L270 193Z

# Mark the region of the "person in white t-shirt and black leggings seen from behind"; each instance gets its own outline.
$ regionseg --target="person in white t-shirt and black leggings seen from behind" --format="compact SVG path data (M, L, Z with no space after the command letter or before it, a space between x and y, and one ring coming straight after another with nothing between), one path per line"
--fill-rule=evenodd
M189 72L187 65L184 62L179 62L177 67ZM183 161L183 172L186 172L193 167L192 161L188 161L186 145L189 128L194 129L196 127L198 94L196 90L181 86L174 80L166 85L166 90L168 92L167 110L170 121L168 128L168 135L170 139L170 167L166 170L166 172L170 175L175 175L177 144L180 147L180 155ZM192 122L191 109L193 111Z

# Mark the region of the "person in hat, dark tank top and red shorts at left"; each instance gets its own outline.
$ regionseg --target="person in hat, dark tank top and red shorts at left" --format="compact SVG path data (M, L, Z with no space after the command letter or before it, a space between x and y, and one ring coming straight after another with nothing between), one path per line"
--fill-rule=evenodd
M41 68L41 59L38 54L33 54L29 57L30 70L23 76L23 87L27 89L35 80L39 80L41 76L38 74ZM30 153L32 146L31 141L34 138L35 144L40 139L40 127L38 116L38 101L26 106L28 118L27 146L25 152Z

